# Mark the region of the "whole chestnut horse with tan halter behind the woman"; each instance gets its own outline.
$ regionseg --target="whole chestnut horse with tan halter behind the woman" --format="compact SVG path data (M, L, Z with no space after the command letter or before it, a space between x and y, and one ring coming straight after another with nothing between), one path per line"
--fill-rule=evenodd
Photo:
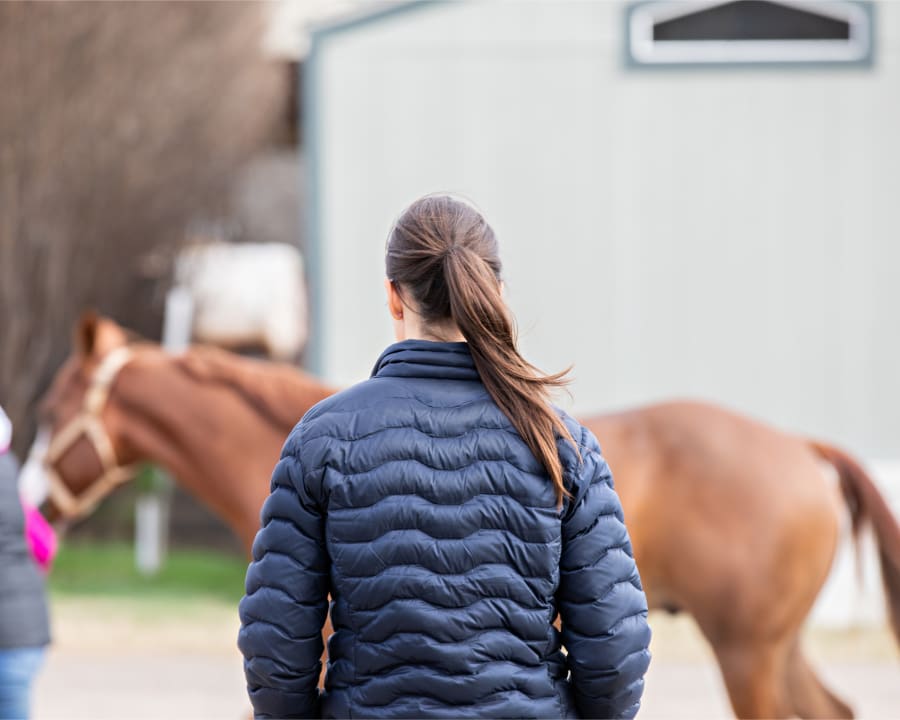
M127 477L125 466L151 461L249 551L285 436L333 389L220 350L170 356L131 344L106 319L86 318L76 338L44 407L51 512L89 512ZM735 713L852 717L810 668L799 634L831 568L844 505L855 528L874 528L900 630L900 528L862 468L834 448L698 403L585 424L613 468L651 608L696 619Z

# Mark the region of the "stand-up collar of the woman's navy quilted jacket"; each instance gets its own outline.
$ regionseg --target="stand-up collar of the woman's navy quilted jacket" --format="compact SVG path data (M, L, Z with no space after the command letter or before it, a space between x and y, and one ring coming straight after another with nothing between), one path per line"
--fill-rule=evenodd
M468 343L403 340L381 353L372 377L478 380Z

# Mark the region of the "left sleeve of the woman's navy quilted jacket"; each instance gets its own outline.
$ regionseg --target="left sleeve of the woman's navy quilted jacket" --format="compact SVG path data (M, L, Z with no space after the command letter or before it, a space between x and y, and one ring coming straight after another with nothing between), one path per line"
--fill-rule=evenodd
M257 718L311 718L319 712L322 625L329 561L324 516L306 482L302 426L288 438L253 543L238 646Z

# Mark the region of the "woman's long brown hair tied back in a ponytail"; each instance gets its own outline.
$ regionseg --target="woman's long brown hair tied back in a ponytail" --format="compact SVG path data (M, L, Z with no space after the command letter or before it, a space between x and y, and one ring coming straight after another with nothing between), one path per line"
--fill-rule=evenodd
M427 195L394 224L385 265L398 291L412 294L426 323L459 327L485 388L546 469L562 504L569 493L556 438L575 443L549 400L551 389L567 383L568 369L544 375L519 354L490 225L464 201Z

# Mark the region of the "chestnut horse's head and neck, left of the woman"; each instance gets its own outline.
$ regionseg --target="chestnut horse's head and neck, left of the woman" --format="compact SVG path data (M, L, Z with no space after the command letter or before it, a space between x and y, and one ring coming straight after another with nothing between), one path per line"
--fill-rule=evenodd
M82 318L43 402L24 493L34 505L46 499L51 520L75 520L149 460L249 544L285 436L334 389L286 365L203 347L171 355L129 339L111 320ZM245 452L239 443L251 436ZM28 489L29 476L43 491Z

